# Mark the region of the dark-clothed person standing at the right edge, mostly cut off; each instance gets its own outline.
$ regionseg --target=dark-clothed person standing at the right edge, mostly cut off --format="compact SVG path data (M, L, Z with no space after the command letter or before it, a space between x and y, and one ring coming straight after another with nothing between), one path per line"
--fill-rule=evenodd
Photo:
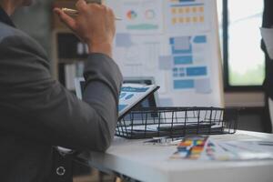
M273 28L273 1L264 0L263 27ZM268 110L269 121L266 123L266 131L273 132L273 60L268 56L268 52L264 42L262 41L262 49L266 55L266 79L264 82L266 93L266 106Z

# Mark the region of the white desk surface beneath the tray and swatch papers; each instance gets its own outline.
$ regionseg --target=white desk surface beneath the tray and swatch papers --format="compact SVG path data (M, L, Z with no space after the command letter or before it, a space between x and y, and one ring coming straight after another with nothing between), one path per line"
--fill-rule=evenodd
M238 131L217 139L259 139L273 141L273 134ZM272 182L273 160L201 161L170 159L177 147L147 145L144 140L116 137L106 153L92 152L89 165L147 182Z

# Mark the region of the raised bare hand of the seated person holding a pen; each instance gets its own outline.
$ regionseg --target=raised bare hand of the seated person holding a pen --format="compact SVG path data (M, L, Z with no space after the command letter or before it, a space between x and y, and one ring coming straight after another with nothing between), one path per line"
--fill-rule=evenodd
M59 8L55 13L89 47L89 53L112 56L112 44L116 34L115 15L106 5L76 3L78 15L71 17Z

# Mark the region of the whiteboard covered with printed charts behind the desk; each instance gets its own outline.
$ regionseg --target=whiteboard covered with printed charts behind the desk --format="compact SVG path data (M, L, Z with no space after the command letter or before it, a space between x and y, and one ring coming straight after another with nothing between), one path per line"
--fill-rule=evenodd
M223 106L216 0L107 0L123 76L153 76L160 106Z

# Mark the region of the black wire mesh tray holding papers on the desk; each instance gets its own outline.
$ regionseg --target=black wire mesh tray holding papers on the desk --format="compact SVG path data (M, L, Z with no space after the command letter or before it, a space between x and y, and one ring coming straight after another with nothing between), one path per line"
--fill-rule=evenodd
M116 136L128 139L234 134L238 109L219 107L144 107L120 119Z

